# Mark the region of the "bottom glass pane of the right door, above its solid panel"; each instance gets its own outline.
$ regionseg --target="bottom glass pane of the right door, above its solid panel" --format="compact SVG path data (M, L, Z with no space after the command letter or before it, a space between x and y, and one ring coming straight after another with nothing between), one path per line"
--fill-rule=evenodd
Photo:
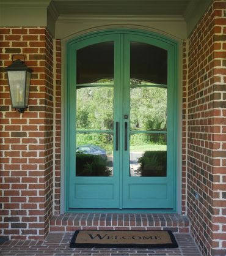
M130 176L166 177L166 134L130 135Z

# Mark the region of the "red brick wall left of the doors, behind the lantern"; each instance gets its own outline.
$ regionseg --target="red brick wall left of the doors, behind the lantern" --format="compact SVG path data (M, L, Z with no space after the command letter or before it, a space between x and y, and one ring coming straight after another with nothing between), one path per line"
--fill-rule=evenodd
M44 238L53 208L53 39L45 28L0 28L2 235ZM11 109L2 67L23 54L31 67L29 109Z

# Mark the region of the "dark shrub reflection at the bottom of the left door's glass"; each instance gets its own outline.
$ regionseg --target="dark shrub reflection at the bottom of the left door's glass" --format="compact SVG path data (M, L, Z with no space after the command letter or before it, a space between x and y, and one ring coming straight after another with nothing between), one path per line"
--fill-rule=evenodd
M101 156L76 154L76 176L110 176L107 163Z

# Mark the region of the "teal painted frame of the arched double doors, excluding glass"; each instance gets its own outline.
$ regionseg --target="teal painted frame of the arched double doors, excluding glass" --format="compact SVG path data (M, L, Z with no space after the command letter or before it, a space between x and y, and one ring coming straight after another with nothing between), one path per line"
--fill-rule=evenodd
M88 45L114 42L114 175L76 176L76 52ZM167 176L129 175L130 44L143 42L167 50ZM177 44L143 31L101 31L67 44L67 209L175 209L177 145ZM166 87L166 86L165 86ZM119 123L118 150L115 126ZM127 122L127 129L125 124ZM97 131L103 132L103 131ZM110 131L111 132L111 131ZM127 137L125 141L125 136ZM146 131L139 131L140 133ZM128 148L125 149L125 144Z

